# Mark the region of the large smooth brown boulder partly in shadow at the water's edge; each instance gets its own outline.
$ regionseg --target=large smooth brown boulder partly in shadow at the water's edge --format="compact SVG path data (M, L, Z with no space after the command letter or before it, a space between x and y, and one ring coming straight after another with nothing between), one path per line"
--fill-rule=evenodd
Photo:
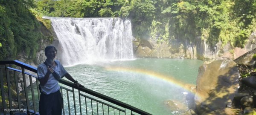
M216 60L199 68L195 103L199 114L223 109L239 86L239 70L232 60Z

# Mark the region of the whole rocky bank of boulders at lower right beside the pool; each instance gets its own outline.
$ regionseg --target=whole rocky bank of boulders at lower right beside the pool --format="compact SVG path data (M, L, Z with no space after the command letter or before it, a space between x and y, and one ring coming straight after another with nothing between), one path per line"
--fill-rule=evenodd
M216 60L199 68L198 115L256 114L256 49L236 60Z

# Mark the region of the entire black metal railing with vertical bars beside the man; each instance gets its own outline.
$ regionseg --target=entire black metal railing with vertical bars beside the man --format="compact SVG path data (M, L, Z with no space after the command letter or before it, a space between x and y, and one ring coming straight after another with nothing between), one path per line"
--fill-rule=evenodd
M87 88L59 80L63 115L151 115L134 106ZM0 61L0 113L38 113L40 91L37 68L18 60Z

